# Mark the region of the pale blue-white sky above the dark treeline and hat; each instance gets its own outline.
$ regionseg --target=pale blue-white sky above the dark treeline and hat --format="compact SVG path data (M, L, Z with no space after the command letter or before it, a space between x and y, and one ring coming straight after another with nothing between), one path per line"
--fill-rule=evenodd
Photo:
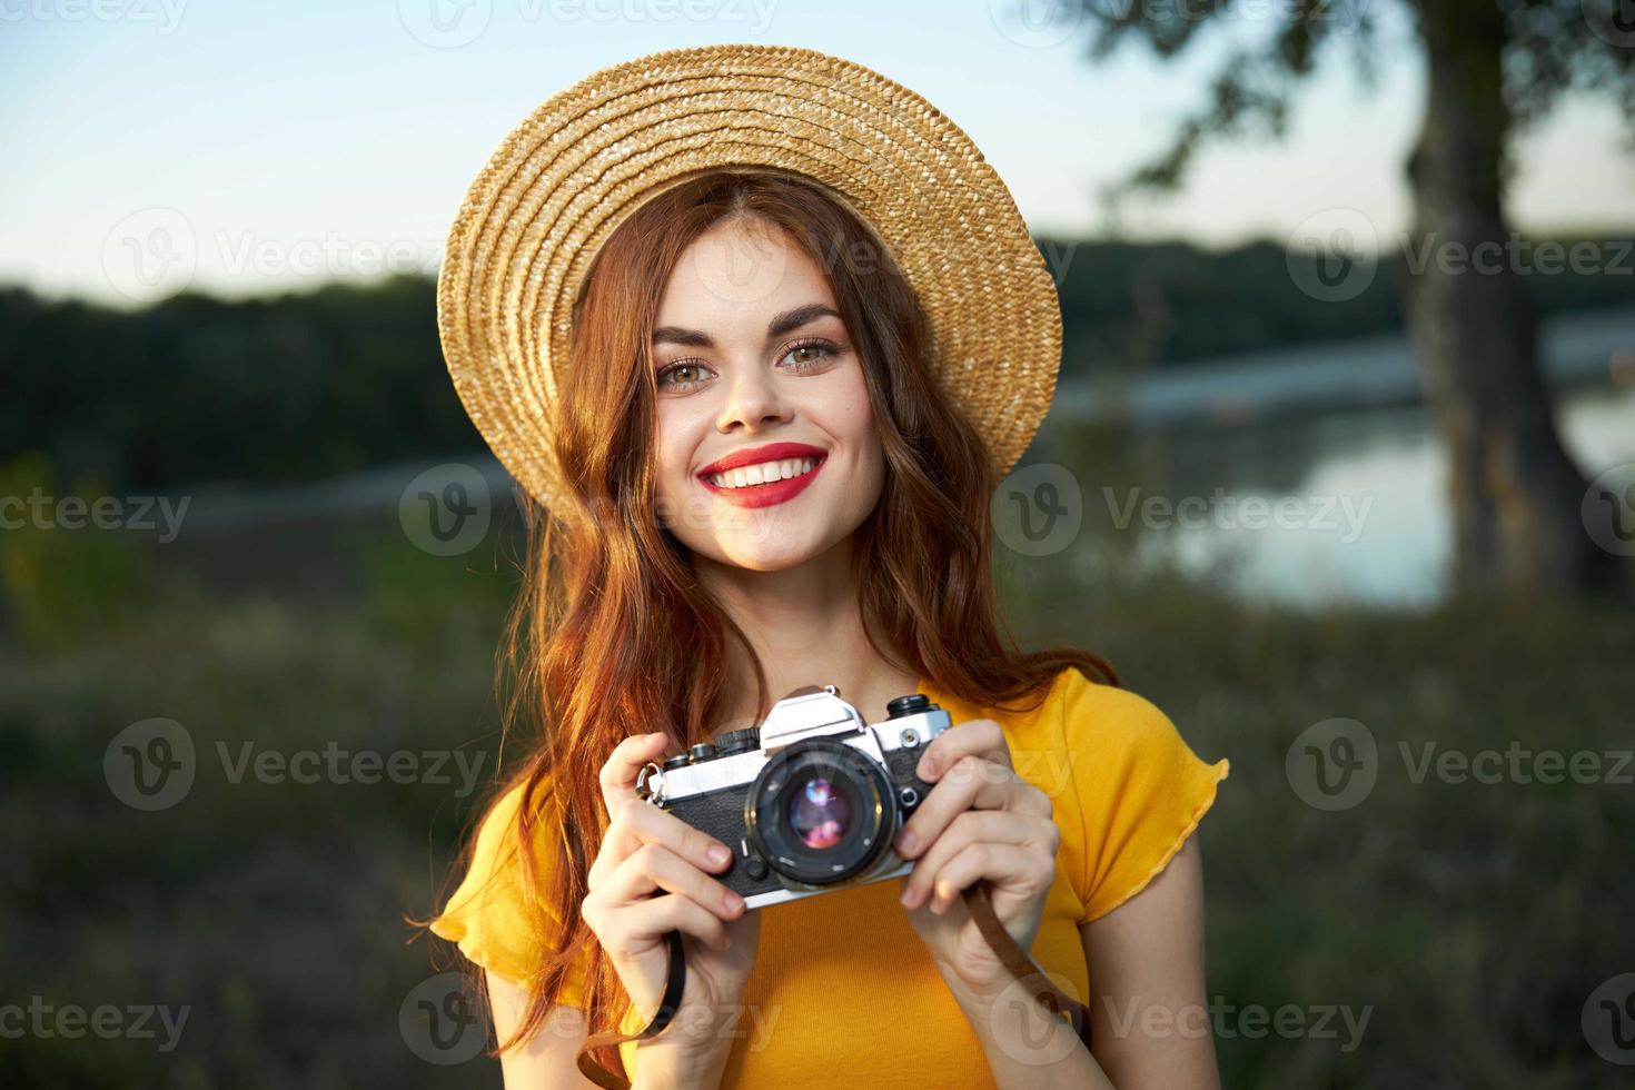
M1154 0L1143 0L1154 2ZM1202 0L1200 0L1202 2ZM1422 77L1386 0L1380 83L1349 41L1280 142L1202 154L1187 186L1130 206L1127 237L1285 242L1334 209L1385 245ZM1159 150L1234 41L1177 59L1087 59L1051 0L0 0L0 284L134 306L337 276L435 271L466 186L540 101L620 60L708 42L791 44L916 90L983 149L1037 234L1091 237L1099 186ZM1261 10L1277 5L1261 5ZM1517 142L1512 226L1635 227L1635 157L1610 98L1570 100Z

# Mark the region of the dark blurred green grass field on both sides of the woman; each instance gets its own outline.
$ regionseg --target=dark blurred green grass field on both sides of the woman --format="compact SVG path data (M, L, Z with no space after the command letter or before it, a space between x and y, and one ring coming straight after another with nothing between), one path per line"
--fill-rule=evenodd
M497 1087L486 1061L427 1062L399 1023L451 964L402 917L433 905L494 771L508 580L490 552L430 557L370 521L46 538L0 557L0 1003L188 1020L162 1051L164 1031L70 1036L47 1016L0 1036L0 1085ZM1230 1087L1628 1085L1581 1025L1635 969L1635 786L1604 781L1635 745L1627 610L1295 614L1076 570L1095 569L1007 567L1024 641L1109 655L1203 758L1233 762L1200 830ZM141 811L105 753L152 717L186 730L196 775ZM1287 757L1336 717L1375 740L1375 784L1323 811ZM1421 765L1432 742L1596 753L1602 781L1458 783ZM327 752L350 771L294 780L298 755ZM422 773L441 753L448 783L361 783L345 762L363 752Z

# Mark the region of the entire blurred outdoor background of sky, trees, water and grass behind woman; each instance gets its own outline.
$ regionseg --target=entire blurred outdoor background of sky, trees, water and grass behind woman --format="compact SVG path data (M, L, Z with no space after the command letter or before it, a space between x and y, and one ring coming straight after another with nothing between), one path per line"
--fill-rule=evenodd
M1627 0L0 0L0 1085L499 1085L404 922L520 549L443 232L721 41L927 96L1056 276L996 564L1233 762L1226 1085L1632 1085Z

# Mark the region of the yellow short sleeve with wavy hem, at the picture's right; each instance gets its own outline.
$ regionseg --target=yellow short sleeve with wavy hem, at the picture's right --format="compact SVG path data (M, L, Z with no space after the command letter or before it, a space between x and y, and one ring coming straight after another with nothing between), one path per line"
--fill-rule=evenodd
M1215 804L1231 765L1207 763L1151 701L1068 670L1063 734L1082 819L1084 920L1141 892Z

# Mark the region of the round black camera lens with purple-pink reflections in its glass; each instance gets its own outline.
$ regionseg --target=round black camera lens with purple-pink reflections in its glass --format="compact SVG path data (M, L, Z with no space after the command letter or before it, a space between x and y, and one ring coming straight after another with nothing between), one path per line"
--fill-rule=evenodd
M894 806L873 758L844 742L808 739L760 770L744 796L744 824L782 878L831 886L880 858Z

